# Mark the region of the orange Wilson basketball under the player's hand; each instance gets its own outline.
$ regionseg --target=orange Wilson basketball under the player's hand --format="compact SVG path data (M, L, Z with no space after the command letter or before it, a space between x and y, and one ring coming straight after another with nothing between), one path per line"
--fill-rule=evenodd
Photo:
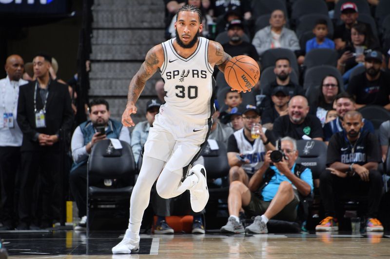
M226 64L225 80L234 90L247 91L254 87L259 78L259 66L249 56L235 56Z

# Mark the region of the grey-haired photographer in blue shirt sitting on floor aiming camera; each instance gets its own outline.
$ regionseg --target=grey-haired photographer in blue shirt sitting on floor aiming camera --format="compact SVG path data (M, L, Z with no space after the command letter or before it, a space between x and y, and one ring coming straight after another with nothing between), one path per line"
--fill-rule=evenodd
M229 188L229 219L221 227L223 233L268 233L270 219L295 221L300 196L306 197L313 190L312 171L295 161L298 157L296 141L286 137L281 140L285 157L270 163L271 151L265 155L263 165L254 173L249 185L234 181ZM245 229L238 213L243 207L248 216L256 216L254 223ZM261 215L261 216L260 216Z

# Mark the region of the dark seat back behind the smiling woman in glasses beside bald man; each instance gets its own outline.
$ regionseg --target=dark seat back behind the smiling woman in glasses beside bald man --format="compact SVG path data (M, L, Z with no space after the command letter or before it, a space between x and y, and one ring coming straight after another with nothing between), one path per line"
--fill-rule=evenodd
M307 89L309 87L319 86L322 83L321 80L326 75L333 75L336 77L340 83L340 88L344 88L343 78L341 77L340 72L335 67L329 65L316 66L307 69L304 76L303 88Z

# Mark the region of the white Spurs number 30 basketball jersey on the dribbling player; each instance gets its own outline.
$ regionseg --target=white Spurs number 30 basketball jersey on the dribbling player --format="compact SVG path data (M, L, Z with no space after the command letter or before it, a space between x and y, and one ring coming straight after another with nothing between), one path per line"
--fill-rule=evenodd
M188 58L175 51L174 40L161 43L164 63L160 73L167 93L160 114L196 122L205 121L206 124L215 111L214 69L208 61L209 40L199 37L195 52Z

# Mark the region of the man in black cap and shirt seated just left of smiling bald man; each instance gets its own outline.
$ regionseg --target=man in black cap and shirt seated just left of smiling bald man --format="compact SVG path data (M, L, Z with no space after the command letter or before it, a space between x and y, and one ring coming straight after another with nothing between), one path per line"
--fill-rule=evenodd
M284 86L277 86L272 90L272 107L266 108L261 114L261 123L266 129L273 129L273 121L288 114L290 95Z

